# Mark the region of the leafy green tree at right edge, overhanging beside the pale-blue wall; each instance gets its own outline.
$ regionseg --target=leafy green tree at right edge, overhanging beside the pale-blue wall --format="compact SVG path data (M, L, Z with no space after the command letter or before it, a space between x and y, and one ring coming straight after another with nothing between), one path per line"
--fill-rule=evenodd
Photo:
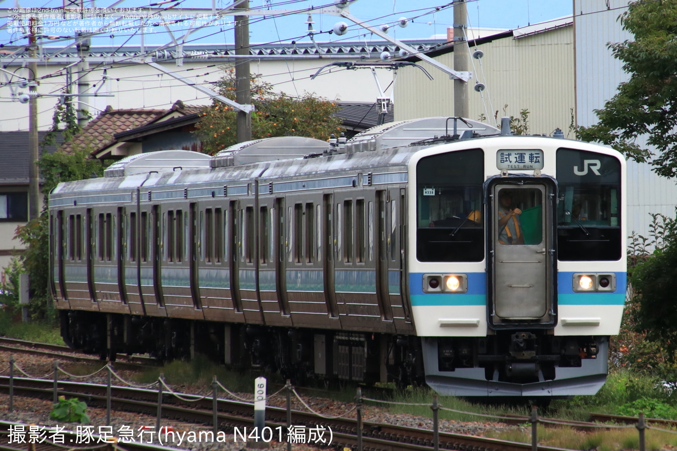
M610 43L630 78L618 86L598 123L580 127L584 141L611 145L628 158L649 162L666 177L677 175L677 0L637 0L619 18L634 40ZM649 148L636 142L647 136Z

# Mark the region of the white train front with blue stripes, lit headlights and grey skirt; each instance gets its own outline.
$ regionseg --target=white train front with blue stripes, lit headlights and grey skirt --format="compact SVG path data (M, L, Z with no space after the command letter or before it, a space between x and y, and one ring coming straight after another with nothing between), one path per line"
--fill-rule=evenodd
M440 394L594 394L606 379L626 289L624 162L536 143L424 150L410 166L412 308Z

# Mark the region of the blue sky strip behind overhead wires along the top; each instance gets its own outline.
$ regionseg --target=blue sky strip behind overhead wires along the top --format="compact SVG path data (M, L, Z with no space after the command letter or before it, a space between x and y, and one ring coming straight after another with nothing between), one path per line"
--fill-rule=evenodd
M0 44L3 45L22 45L27 43L26 38L26 9L22 8L41 8L42 11L49 11L49 8L62 7L64 3L79 3L80 0L0 0L0 8L5 8L3 14L5 18L0 24L6 24L12 18L18 19L9 22L0 30ZM154 3L155 1L152 0ZM162 0L160 0L162 1ZM18 4L17 4L18 3ZM230 5L231 0L177 0L164 1L162 7L168 8L165 11L165 22L178 20L176 23L169 23L169 28L175 39L180 39L191 25L191 21L196 20L183 13L182 8L200 7L210 8L214 5L217 9ZM364 20L372 26L381 24L392 24L389 34L397 39L427 39L435 35L444 36L446 28L452 26L453 9L450 7L451 0L355 0L352 1L348 9L351 15L359 20ZM333 6L334 0L250 0L251 9L271 9L274 11L280 9L304 9L311 5ZM148 6L141 0L108 0L105 3L101 0L87 1L85 7L110 7L116 8L137 8L142 11L142 7ZM72 6L70 6L72 7ZM436 9L438 8L438 9ZM466 8L468 11L468 26L472 28L500 28L510 29L520 26L527 26L538 22L544 22L571 15L571 0L467 0ZM138 13L136 13L138 14ZM401 28L395 25L399 18L407 18L408 25ZM101 24L94 20L81 22L65 21L58 14L51 12L43 17L43 34L60 37L56 40L42 39L41 42L49 46L68 45L72 43L72 36L77 29L85 31L94 30ZM147 20L147 19L146 19ZM153 18L157 23L160 19ZM194 24L206 23L208 18L197 18ZM271 11L270 16L250 16L250 41L252 43L274 43L309 41L307 14L290 14L288 16L277 16ZM353 24L345 18L330 16L328 14L312 15L313 29L315 30L315 40L319 42L336 41L369 41L380 40L378 37L366 32L364 28ZM116 28L108 28L106 32L95 35L92 45L112 45L119 46L123 44L139 45L163 45L171 43L171 36L165 31L164 26L152 26L146 22L144 28L139 29L141 20L137 18L124 18L116 25ZM336 22L346 22L349 27L341 37L336 34L329 34ZM206 26L198 32L190 34L186 39L188 43L194 44L219 44L232 43L234 41L232 18L221 18L216 24ZM24 28L21 28L24 26ZM71 37L69 40L68 38Z

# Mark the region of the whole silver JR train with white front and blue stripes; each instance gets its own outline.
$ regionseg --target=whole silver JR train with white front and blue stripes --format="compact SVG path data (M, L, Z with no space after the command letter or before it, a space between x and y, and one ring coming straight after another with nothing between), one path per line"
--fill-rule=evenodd
M595 394L626 296L626 162L422 118L140 153L49 195L64 341L303 383Z

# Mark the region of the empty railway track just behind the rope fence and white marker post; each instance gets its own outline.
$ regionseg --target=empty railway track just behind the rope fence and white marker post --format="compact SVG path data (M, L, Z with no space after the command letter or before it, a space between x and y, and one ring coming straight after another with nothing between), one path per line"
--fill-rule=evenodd
M7 377L0 377L0 391L8 391ZM50 381L41 379L18 379L14 381L14 393L21 396L36 396L50 399L53 387ZM58 393L67 397L74 396L86 400L89 406L106 406L106 386L90 383L59 382ZM165 392L166 393L166 392ZM184 398L194 397L181 394ZM194 397L198 398L198 397ZM195 427L213 429L213 400L204 398L187 403L173 396L162 402L162 417L175 421L190 422ZM158 391L127 387L112 387L111 405L114 410L127 410L149 415L158 410ZM253 423L253 406L248 402L218 400L217 423L220 431L233 433L236 428L251 428ZM292 410L291 424L294 427L316 427L331 431L331 447L356 449L357 421L351 418L327 419L310 412ZM206 426L205 426L206 425ZM268 407L266 423L272 431L287 431L287 410L280 407ZM384 423L364 421L362 424L362 446L366 451L427 451L434 446L433 431L413 427L402 427ZM554 451L559 448L539 446L543 451ZM24 448L25 449L25 448ZM483 450L483 451L526 451L529 444L504 442L487 437L475 437L456 433L439 433L439 449L441 450Z

